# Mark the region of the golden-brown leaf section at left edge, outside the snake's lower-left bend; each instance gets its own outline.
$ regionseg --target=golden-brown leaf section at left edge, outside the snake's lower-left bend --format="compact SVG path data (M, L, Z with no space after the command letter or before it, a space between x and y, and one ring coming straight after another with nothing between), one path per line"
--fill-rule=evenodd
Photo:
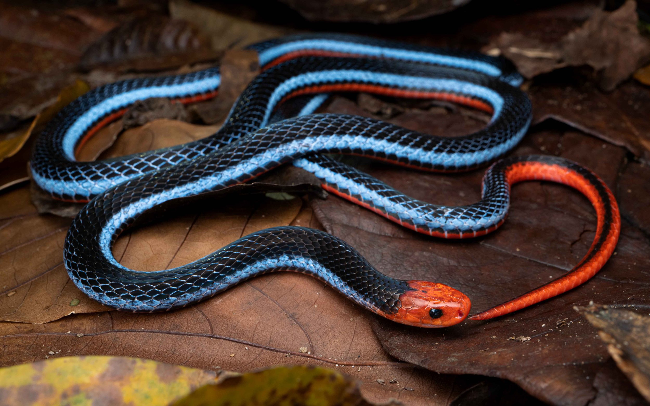
M69 219L39 216L29 188L0 195L0 320L44 323L105 308L77 289L63 266ZM73 299L79 299L71 306Z

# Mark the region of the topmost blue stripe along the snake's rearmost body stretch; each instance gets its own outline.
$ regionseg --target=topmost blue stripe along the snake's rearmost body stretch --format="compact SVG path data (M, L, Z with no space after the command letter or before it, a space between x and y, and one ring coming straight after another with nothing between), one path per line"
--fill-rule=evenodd
M259 53L259 64L264 66L275 58L281 57L293 51L302 51L304 49L319 49L322 51L333 51L357 55L366 55L377 58L393 58L411 62L423 62L443 66L452 66L476 72L482 72L486 75L499 77L501 70L496 66L480 60L469 58L451 57L449 55L438 55L435 53L411 51L408 49L387 48L367 44L355 44L354 42L344 42L336 40L298 40L287 44L276 45Z

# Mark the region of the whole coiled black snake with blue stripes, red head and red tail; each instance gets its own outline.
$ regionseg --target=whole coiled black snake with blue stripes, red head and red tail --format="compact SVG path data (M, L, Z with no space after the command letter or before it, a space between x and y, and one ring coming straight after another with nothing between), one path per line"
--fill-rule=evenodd
M393 222L443 238L497 229L508 214L510 188L520 181L564 183L588 197L597 231L577 266L472 320L502 316L574 288L612 255L620 229L616 199L597 175L570 160L498 160L486 171L480 201L447 207L405 196L328 155L441 172L473 170L502 158L523 138L532 116L530 99L517 87L521 75L507 60L345 34L288 36L250 49L257 51L262 71L212 136L115 159L75 159L88 139L138 100L194 103L214 97L218 68L100 86L70 103L39 134L31 160L34 182L54 199L87 202L66 235L64 264L90 298L122 311L168 311L283 270L313 275L361 307L406 325L448 327L469 316L471 301L459 290L384 275L340 238L305 227L257 231L207 257L157 272L131 270L112 255L118 236L153 214L178 210L194 197L283 164L311 172L325 190ZM331 92L441 99L484 110L491 120L466 136L432 136L372 118L316 113ZM298 109L289 117L279 114L291 100L300 101Z

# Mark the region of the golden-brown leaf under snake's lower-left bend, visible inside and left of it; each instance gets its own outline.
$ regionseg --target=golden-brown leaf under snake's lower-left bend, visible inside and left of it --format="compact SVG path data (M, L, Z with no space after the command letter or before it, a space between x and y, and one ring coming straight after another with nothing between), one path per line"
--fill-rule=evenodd
M63 240L70 220L39 216L27 190L0 196L0 205L11 210L0 223L0 280L5 281L0 286L0 320L45 323L73 312L107 310L82 294L64 269ZM257 229L288 225L302 203L248 197L211 206L137 229L135 237L127 233L115 246L116 258L140 270L184 264ZM80 303L71 305L74 299Z

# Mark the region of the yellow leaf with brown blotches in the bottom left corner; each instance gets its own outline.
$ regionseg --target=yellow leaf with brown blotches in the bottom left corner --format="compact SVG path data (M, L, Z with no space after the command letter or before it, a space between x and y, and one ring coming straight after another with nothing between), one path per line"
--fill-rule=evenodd
M50 357L59 349L44 349ZM0 368L3 405L168 405L215 372L128 357L62 357Z

